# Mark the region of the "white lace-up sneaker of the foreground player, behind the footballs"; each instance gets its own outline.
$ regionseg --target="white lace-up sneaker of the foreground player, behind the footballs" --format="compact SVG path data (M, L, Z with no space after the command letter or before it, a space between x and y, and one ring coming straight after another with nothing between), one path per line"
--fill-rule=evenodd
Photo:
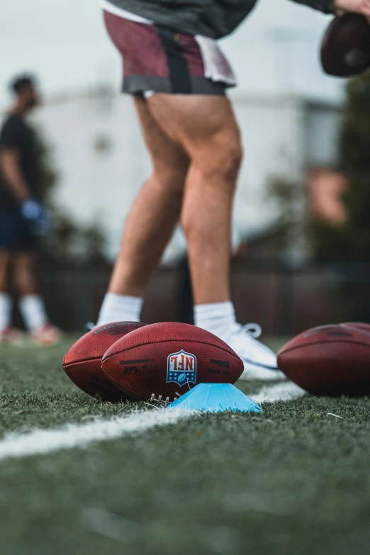
M228 337L221 337L244 362L241 379L283 380L286 376L278 369L276 354L257 341L262 333L258 324L236 324Z

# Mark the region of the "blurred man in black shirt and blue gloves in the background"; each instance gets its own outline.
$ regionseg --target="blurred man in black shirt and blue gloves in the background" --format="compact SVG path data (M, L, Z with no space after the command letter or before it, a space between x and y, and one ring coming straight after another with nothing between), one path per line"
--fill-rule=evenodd
M16 77L11 90L0 131L0 343L23 343L23 332L11 324L14 292L33 342L54 344L60 330L47 317L35 269L38 235L50 230L50 219L40 200L35 134L26 121L40 96L29 75Z

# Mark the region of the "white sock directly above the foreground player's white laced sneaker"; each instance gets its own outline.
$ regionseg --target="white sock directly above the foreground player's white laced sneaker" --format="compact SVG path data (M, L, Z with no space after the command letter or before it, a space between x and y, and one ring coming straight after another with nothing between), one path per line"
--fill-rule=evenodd
M228 337L237 325L234 305L230 301L196 305L194 306L194 323L221 339Z

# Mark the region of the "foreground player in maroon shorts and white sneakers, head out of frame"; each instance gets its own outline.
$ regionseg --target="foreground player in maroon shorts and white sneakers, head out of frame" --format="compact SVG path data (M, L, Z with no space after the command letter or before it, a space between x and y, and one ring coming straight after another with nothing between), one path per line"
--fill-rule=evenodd
M324 13L369 11L370 0L294 0ZM281 378L258 326L237 323L230 301L232 204L242 161L226 96L236 81L216 40L232 33L257 0L102 0L123 57L152 176L130 210L98 325L140 320L145 287L181 221L189 253L194 323L242 358L245 377ZM257 329L256 329L257 328Z

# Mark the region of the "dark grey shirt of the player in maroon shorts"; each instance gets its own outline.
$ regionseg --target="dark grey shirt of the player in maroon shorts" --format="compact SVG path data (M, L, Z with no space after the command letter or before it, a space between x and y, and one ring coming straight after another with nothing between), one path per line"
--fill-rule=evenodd
M107 0L109 4L150 19L159 26L222 38L230 35L252 11L257 0ZM271 0L271 3L274 0ZM293 0L327 12L332 0Z

